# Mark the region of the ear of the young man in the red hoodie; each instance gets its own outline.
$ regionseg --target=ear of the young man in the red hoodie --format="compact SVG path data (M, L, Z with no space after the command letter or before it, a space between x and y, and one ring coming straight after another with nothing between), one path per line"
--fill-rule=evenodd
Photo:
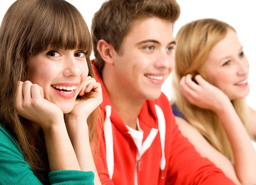
M115 51L115 49L110 43L103 39L99 40L97 44L97 50L100 54L100 57L102 58L102 60L104 60L105 63L113 64L113 52Z

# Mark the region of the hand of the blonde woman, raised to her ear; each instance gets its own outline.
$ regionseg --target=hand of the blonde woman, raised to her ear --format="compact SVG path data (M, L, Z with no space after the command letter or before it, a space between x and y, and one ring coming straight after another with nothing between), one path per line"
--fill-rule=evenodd
M191 104L217 113L226 103L230 103L223 91L208 83L200 75L196 75L195 80L198 84L192 80L191 74L183 76L180 80L180 91Z

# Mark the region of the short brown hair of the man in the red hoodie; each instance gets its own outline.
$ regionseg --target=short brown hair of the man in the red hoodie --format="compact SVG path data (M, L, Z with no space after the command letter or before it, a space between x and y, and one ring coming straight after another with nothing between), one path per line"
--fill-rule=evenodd
M97 51L99 40L107 41L121 53L122 41L135 20L158 17L175 23L179 16L180 6L176 0L108 0L93 17L91 33L95 65L97 68L104 66Z

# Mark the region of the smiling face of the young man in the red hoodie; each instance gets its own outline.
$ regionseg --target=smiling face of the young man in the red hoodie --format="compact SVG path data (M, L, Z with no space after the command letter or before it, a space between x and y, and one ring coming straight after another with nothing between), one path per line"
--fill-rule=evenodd
M135 20L120 51L114 52L114 83L129 97L157 99L174 67L174 46L171 21L157 17Z

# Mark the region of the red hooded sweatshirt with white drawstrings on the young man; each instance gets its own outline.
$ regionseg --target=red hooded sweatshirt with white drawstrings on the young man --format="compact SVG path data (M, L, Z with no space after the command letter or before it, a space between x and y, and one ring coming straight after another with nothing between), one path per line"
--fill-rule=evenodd
M102 185L234 185L183 137L162 93L147 100L137 118L138 131L125 125L103 91L104 132L96 168ZM129 111L129 110L127 110Z

